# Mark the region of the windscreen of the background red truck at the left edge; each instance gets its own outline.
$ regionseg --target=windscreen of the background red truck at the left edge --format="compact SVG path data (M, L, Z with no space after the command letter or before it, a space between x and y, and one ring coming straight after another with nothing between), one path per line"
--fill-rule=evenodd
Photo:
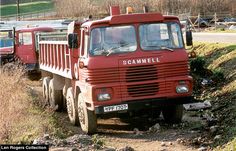
M0 48L13 46L12 31L0 31Z

